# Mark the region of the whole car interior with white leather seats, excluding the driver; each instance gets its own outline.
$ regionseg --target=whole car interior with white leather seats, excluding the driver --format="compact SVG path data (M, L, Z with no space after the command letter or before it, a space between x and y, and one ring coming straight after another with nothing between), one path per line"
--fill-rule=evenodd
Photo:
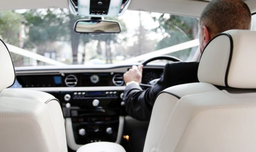
M210 1L1 2L0 152L134 152L137 129L143 152L255 152L256 1L244 0L252 30L219 34L201 54ZM129 116L124 73L143 64L147 89L179 61L199 61L200 82L159 93L150 121Z

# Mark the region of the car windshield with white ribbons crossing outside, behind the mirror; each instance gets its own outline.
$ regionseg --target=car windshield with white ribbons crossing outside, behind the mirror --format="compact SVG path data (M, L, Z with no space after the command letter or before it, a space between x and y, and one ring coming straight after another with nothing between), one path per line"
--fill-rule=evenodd
M68 9L0 11L0 37L15 67L140 62L157 55L192 59L198 46L198 19L126 11L119 34L78 34ZM194 41L192 41L194 40ZM180 44L180 45L178 45Z

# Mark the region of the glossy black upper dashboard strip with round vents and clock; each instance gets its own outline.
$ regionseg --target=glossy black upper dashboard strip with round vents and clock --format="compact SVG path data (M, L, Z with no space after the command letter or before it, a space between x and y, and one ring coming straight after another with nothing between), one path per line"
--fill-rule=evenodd
M123 73L81 72L81 73L36 73L17 75L22 88L38 87L97 87L122 86Z

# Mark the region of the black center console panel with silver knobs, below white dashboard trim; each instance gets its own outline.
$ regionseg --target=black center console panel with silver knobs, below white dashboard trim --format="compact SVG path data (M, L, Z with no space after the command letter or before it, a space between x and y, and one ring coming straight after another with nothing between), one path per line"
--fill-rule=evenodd
M61 92L65 118L72 122L76 144L116 142L119 116L124 115L123 91Z

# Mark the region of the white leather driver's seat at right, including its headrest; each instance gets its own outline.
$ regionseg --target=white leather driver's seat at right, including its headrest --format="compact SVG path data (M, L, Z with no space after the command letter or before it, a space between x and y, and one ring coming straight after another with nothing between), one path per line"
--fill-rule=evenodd
M256 151L255 39L255 31L230 30L209 42L200 83L158 95L144 152Z

